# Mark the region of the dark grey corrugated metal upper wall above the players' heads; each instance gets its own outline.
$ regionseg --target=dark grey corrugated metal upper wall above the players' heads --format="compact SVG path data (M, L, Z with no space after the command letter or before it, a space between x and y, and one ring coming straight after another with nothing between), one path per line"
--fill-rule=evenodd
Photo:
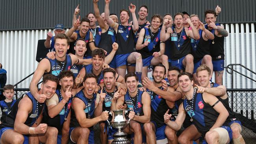
M72 26L74 9L80 4L81 13L93 11L92 0L1 0L0 31L7 30L42 30L53 28L57 23L66 27ZM154 14L164 15L187 11L198 14L204 21L204 11L222 8L218 16L220 23L252 23L256 22L255 0L112 0L110 12L119 13L120 9L128 9L132 2L137 6L147 5L148 19ZM104 11L105 1L98 2L100 11Z

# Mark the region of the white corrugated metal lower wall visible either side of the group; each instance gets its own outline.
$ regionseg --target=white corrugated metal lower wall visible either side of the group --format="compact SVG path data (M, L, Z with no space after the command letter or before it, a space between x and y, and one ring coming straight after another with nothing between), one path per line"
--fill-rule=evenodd
M254 24L225 24L229 36L225 38L225 66L231 63L241 63L256 71L255 60L255 35L249 30L254 31ZM241 30L239 32L238 30ZM37 50L37 41L45 39L46 33L52 30L27 30L27 31L1 31L0 32L0 63L7 70L7 83L15 84L22 78L25 78L37 67L35 55ZM53 32L53 31L52 31ZM256 76L245 71L241 67L235 67L236 70L247 74L254 79ZM151 76L151 74L149 74ZM224 70L223 84L231 88L230 74ZM234 88L256 88L256 83L244 78L241 75L235 75ZM19 88L28 88L32 77L21 83ZM214 78L213 78L214 79Z

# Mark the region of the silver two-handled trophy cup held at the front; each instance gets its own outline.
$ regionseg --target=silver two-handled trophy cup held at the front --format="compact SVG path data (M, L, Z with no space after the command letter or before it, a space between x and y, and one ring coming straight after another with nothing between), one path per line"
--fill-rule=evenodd
M130 118L129 120L125 118L125 114L127 113L128 111L125 109L109 112L109 114L112 116L112 119L110 122L107 120L108 124L113 128L118 129L117 132L113 135L114 140L111 144L131 144L131 142L126 138L127 134L122 131L122 128L125 128L130 122Z

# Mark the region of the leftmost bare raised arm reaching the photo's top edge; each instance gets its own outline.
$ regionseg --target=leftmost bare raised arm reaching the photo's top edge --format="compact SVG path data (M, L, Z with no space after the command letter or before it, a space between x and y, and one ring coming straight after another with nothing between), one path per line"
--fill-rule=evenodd
M100 10L98 8L98 0L93 0L93 9L94 9L94 14L95 14L95 17L97 19L97 22L98 22L100 28L102 30L104 30L102 32L107 31L108 26L105 24L104 19L102 17L100 17Z

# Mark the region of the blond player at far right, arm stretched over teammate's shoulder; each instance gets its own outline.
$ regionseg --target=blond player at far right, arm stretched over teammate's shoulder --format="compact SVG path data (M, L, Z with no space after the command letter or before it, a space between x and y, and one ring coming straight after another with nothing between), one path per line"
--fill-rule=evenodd
M245 140L241 135L242 125L241 122L236 118L234 112L229 107L228 94L226 92L226 87L223 85L218 85L217 83L210 82L211 70L206 65L201 65L197 68L197 79L200 86L197 86L198 93L208 92L217 96L217 98L223 103L223 105L228 110L230 120L229 126L232 129L232 136L234 144L245 144Z

